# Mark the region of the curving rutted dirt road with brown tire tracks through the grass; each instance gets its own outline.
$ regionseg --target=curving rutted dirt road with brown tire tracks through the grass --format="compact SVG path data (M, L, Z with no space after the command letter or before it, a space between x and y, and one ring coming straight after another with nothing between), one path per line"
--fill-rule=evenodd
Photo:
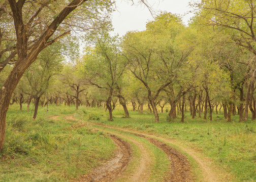
M67 120L77 120L73 116L66 116ZM170 161L169 171L161 180L152 181L226 181L227 179L220 178L216 168L212 162L200 154L198 151L181 144L179 141L170 140L163 136L140 133L138 131L127 130L118 127L110 127L91 122L80 121L84 124L91 125L99 130L104 130L110 133L110 138L117 146L116 157L104 164L102 167L95 169L92 173L82 175L78 181L149 181L152 174L152 165L155 163L154 154L149 150L145 142L147 140L155 147L161 149L167 155ZM83 125L81 125L83 126ZM139 150L140 156L136 159L136 165L133 170L126 172L129 168L130 161L134 160L131 144ZM177 146L172 147L172 146ZM186 153L190 156L198 166L199 173L194 174L191 169L190 162ZM99 175L100 174L100 175Z

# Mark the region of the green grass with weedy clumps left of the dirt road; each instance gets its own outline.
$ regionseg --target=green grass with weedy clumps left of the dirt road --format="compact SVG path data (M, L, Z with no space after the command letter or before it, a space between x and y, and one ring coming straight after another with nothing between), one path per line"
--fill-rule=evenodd
M91 127L72 128L76 121L46 118L40 108L7 114L6 142L0 153L0 181L68 181L113 157L115 145L107 135ZM74 107L50 106L47 116L71 114Z

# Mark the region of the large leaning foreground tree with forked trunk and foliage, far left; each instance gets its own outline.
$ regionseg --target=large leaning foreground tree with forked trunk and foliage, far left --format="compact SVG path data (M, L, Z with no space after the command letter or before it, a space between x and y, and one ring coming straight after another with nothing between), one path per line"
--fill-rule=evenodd
M96 24L91 21L102 20L106 12L112 11L111 5L109 1L91 2L87 0L73 0L68 4L58 0L2 1L1 13L3 9L4 14L12 12L11 19L14 22L14 28L11 31L15 29L16 33L14 44L17 60L0 90L0 151L5 141L6 113L11 96L25 70L36 60L43 49L69 34L72 25L83 29L95 27ZM69 16L72 12L72 16ZM80 19L84 21L78 24ZM6 19L1 19L1 22L6 23L5 21ZM1 50L2 46L1 44Z

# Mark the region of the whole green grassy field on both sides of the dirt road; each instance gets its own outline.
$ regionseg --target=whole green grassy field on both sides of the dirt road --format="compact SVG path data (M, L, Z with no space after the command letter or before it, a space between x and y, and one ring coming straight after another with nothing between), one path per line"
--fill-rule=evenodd
M33 112L11 106L7 115L6 143L0 153L0 181L67 181L90 171L111 158L113 142L102 131L90 126L74 128L79 123L65 119L48 119L50 115L71 115L82 120L157 133L177 139L196 148L216 165L235 176L234 181L256 181L256 122L239 123L238 116L227 123L222 113L213 114L213 121L180 116L167 121L167 113L159 113L160 123L148 112L130 111L123 118L120 108L114 110L114 121L108 121L103 108L49 106Z

